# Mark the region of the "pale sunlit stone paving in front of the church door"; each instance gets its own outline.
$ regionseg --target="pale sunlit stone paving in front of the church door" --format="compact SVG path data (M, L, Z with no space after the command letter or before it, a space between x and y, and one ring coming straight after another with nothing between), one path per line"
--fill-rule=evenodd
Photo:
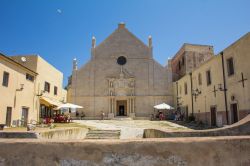
M166 131L190 130L187 127L168 121L149 120L74 120L91 128L100 130L121 130L120 139L142 138L144 129L162 129Z

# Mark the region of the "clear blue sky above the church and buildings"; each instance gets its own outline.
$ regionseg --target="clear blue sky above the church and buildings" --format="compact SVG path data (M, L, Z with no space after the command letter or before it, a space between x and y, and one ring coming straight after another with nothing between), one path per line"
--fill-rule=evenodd
M0 52L39 54L64 73L90 59L119 22L144 43L153 37L162 65L183 43L223 50L250 31L249 0L0 0Z

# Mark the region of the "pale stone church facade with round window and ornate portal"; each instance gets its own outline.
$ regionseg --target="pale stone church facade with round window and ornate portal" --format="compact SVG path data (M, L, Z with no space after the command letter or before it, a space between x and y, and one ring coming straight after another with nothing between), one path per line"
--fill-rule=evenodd
M145 45L123 23L99 45L93 37L89 62L78 69L73 61L68 102L82 105L86 117L104 112L109 119L149 117L154 105L172 105L171 70L153 59L152 50L150 36Z

